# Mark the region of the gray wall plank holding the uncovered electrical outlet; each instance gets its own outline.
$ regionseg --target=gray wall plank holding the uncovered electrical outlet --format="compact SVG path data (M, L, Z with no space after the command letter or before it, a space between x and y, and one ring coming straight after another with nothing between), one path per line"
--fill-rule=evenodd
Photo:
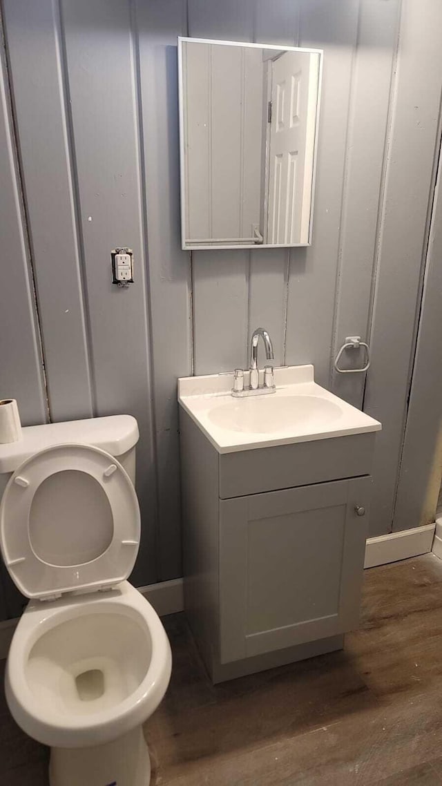
M134 581L156 581L156 465L149 403L149 321L130 8L120 0L64 0L62 23L79 179L81 233L97 414L139 424L142 546ZM112 285L110 252L134 251L134 281Z

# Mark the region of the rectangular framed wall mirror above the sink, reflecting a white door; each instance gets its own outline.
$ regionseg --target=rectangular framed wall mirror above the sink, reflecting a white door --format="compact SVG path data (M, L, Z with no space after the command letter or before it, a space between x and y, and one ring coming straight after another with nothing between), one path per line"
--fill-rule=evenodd
M182 248L311 242L321 56L179 39Z

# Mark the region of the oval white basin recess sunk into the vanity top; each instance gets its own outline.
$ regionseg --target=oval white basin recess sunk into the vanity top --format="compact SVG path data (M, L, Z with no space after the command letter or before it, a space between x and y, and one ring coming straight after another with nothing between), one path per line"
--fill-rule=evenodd
M208 410L208 419L233 432L267 434L288 428L324 428L341 417L341 408L313 395L279 398L268 396L233 399Z

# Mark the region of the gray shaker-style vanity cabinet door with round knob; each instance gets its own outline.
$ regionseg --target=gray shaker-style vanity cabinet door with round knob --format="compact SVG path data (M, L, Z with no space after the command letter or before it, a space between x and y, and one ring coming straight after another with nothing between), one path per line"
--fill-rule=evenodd
M219 501L221 663L358 626L370 483Z

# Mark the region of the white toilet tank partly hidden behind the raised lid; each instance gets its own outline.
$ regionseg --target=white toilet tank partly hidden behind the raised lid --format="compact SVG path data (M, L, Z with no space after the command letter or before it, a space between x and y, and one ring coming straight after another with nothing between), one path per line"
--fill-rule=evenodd
M135 446L139 432L138 423L131 415L26 426L22 433L23 437L18 442L0 445L0 499L10 476L25 459L39 453L39 450L63 443L92 445L105 450L120 461L135 484Z

